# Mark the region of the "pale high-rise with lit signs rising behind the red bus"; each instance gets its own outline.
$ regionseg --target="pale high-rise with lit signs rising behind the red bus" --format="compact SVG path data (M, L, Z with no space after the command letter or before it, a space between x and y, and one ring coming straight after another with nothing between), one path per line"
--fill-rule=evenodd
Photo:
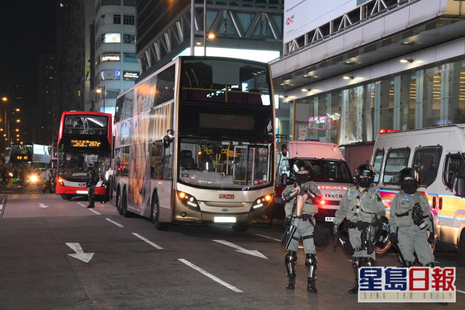
M94 4L94 22L89 27L93 31L90 110L114 113L116 97L134 85L140 74L136 59L136 1L95 0Z

